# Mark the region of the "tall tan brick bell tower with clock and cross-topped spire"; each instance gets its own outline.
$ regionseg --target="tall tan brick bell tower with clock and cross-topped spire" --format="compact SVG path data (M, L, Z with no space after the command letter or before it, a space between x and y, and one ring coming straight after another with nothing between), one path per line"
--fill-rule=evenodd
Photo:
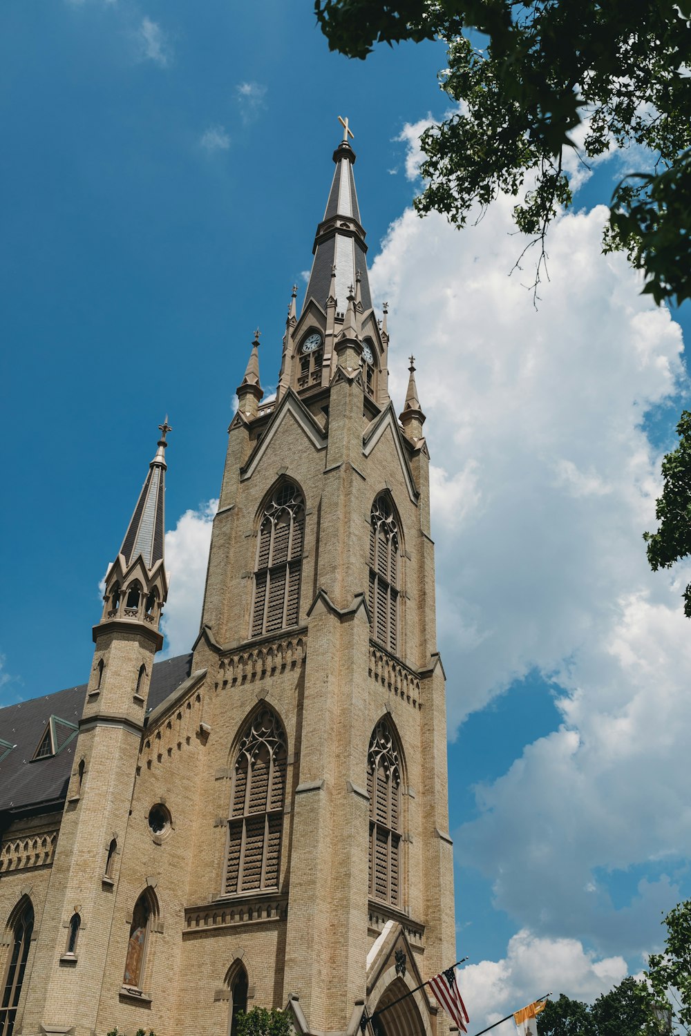
M343 126L276 399L257 334L229 428L192 666L214 688L196 834L212 876L191 874L188 902L211 904L193 925L239 924L233 1010L354 1034L365 1005L455 960L455 928L425 414L412 357L400 418L388 396ZM449 1018L422 989L381 1025Z

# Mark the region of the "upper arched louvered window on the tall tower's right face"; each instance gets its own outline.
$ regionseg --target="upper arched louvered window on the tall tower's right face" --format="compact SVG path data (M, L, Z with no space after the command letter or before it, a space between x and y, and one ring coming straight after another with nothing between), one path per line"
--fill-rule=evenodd
M391 500L380 493L370 517L372 635L388 651L399 646L399 528Z

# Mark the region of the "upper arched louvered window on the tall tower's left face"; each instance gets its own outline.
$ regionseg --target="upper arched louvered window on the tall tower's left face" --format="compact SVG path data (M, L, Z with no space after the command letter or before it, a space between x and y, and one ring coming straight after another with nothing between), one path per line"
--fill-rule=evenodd
M305 539L305 502L292 482L273 491L259 526L252 636L296 626Z

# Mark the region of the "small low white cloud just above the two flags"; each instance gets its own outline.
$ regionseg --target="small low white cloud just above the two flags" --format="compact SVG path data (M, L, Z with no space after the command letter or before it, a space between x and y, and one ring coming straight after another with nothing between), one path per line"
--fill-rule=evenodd
M592 1003L627 972L621 956L598 960L577 940L541 939L523 928L510 940L505 958L466 965L458 976L476 1032L548 992Z

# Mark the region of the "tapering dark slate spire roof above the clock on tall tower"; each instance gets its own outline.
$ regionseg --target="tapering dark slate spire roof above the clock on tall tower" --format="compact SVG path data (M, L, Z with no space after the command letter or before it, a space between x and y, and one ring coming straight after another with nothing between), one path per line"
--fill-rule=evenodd
M347 141L342 141L334 151L336 171L326 202L324 218L317 227L314 239L314 262L310 275L305 306L314 298L326 309L332 283L332 267L336 265L336 312L344 314L348 305L348 289L355 284L355 274L361 271L361 298L364 310L372 307L370 284L367 276L367 244L365 230L359 222L359 206L355 192L352 167L355 152Z

